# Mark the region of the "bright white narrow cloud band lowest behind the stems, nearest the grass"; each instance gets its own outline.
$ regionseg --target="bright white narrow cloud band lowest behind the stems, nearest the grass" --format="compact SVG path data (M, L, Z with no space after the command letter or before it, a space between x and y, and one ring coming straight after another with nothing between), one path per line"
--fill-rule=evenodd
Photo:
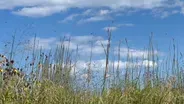
M120 70L124 70L125 68L153 68L157 67L159 63L148 61L148 60L139 60L138 62L127 62L127 61L111 61L109 60L109 69L112 70L113 66L116 69L119 65ZM92 60L91 61L91 70L93 71L103 71L106 67L106 60ZM89 61L79 60L76 64L76 72L84 72L89 68Z

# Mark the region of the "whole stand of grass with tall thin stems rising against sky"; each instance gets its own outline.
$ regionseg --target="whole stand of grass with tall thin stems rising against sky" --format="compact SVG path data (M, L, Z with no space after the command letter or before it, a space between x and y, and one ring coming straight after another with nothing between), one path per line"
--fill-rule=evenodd
M87 78L84 85L79 85L78 74L75 71L78 56L70 51L70 39L68 45L63 44L65 37L61 38L56 50L44 52L36 51L34 41L30 54L25 57L24 69L18 69L14 61L15 36L11 43L10 52L1 55L1 104L183 104L184 103L184 77L183 55L173 42L170 55L161 64L147 66L138 63L138 60L148 60L159 63L159 56L152 41L149 39L147 54L142 59L133 58L127 39L118 44L118 65L109 67L111 53L111 31L108 30L108 43L104 45L105 69L102 85L92 84L92 58L93 43L87 69ZM35 39L36 40L36 36ZM121 44L127 46L127 65L121 74ZM54 61L54 63L53 63ZM115 63L113 63L114 65ZM74 70L72 72L72 70ZM24 72L23 72L24 71ZM26 73L29 73L26 75ZM112 73L111 73L112 72ZM108 74L112 76L109 78ZM100 87L99 87L100 86Z

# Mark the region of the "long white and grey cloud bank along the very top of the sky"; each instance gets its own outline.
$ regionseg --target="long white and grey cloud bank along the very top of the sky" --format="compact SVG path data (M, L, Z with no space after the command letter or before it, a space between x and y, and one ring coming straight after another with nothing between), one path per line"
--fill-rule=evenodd
M177 13L183 14L184 1L182 0L1 0L0 9L12 11L14 14L28 17L45 17L60 13L71 8L108 8L100 10L98 16L93 16L80 22L100 21L104 15L112 14L127 8L154 10L155 8L164 8L163 16L168 16L165 9L179 8ZM87 13L87 12L86 12ZM157 12L156 12L157 13ZM175 14L172 12L171 14Z

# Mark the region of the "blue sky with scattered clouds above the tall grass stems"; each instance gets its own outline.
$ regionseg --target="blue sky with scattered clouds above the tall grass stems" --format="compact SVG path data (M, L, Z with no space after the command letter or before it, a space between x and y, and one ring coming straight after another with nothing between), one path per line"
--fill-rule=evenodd
M13 34L16 41L31 42L36 35L45 50L53 49L60 37L67 36L71 37L71 50L79 46L83 57L79 67L85 67L89 60L85 56L90 53L90 42L94 43L93 60L103 66L101 42L107 44L107 29L112 31L115 54L122 41L121 57L125 58L125 38L132 57L141 57L151 33L159 55L168 54L173 39L184 51L183 27L183 0L0 0L1 52ZM121 67L125 63L122 61ZM144 63L146 66L149 61Z

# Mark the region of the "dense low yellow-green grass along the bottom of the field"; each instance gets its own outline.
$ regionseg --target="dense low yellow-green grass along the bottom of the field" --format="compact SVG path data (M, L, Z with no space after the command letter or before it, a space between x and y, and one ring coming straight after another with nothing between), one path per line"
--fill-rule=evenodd
M21 86L19 86L21 87ZM17 90L22 90L17 92ZM55 85L50 81L43 81L34 86L34 92L24 87L15 88L13 84L1 89L1 103L3 104L183 104L184 94L171 86L148 87L142 90L135 88L111 89L103 95L88 91L72 91L71 89ZM32 94L30 94L32 93Z

